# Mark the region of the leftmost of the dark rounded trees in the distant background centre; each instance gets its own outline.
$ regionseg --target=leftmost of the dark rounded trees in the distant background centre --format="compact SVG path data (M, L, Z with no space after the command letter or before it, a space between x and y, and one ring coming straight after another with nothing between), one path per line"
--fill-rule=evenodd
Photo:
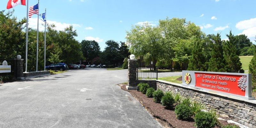
M91 61L100 56L100 46L95 40L82 40L81 45L83 55L87 60Z

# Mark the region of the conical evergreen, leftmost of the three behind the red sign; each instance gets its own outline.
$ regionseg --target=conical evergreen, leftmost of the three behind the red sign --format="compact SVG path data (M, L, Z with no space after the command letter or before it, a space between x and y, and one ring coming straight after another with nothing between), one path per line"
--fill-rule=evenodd
M195 48L192 50L192 58L189 61L188 70L207 71L206 56L200 39L196 41Z

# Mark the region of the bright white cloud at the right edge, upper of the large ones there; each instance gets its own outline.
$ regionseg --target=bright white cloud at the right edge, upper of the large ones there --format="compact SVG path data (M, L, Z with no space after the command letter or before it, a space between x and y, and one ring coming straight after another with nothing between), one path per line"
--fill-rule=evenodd
M236 28L239 30L244 30L252 27L256 27L256 18L252 18L250 20L243 20L236 23Z

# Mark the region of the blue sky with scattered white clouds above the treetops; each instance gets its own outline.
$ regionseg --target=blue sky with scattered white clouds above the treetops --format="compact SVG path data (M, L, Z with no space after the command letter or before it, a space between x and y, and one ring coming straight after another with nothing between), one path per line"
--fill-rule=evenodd
M8 11L8 1L0 1L0 10ZM37 2L29 0L28 6ZM226 34L232 30L235 36L245 34L255 44L255 5L256 0L40 0L39 13L46 8L47 23L55 24L56 30L73 25L79 42L95 40L103 51L107 40L126 42L126 31L132 25L148 22L157 26L166 17L186 18L206 35L220 33L222 40L227 40ZM9 10L13 9L18 19L26 17L26 6ZM44 31L41 24L40 20L39 30ZM37 29L37 15L29 18L29 27Z

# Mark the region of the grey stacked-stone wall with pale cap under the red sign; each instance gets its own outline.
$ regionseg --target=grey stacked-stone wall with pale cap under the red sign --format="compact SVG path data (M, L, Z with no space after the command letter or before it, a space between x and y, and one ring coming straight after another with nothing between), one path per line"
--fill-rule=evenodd
M207 106L207 110L214 109L220 116L256 128L256 100L244 100L161 80L156 80L156 86L164 92L180 93L183 97L200 101Z

